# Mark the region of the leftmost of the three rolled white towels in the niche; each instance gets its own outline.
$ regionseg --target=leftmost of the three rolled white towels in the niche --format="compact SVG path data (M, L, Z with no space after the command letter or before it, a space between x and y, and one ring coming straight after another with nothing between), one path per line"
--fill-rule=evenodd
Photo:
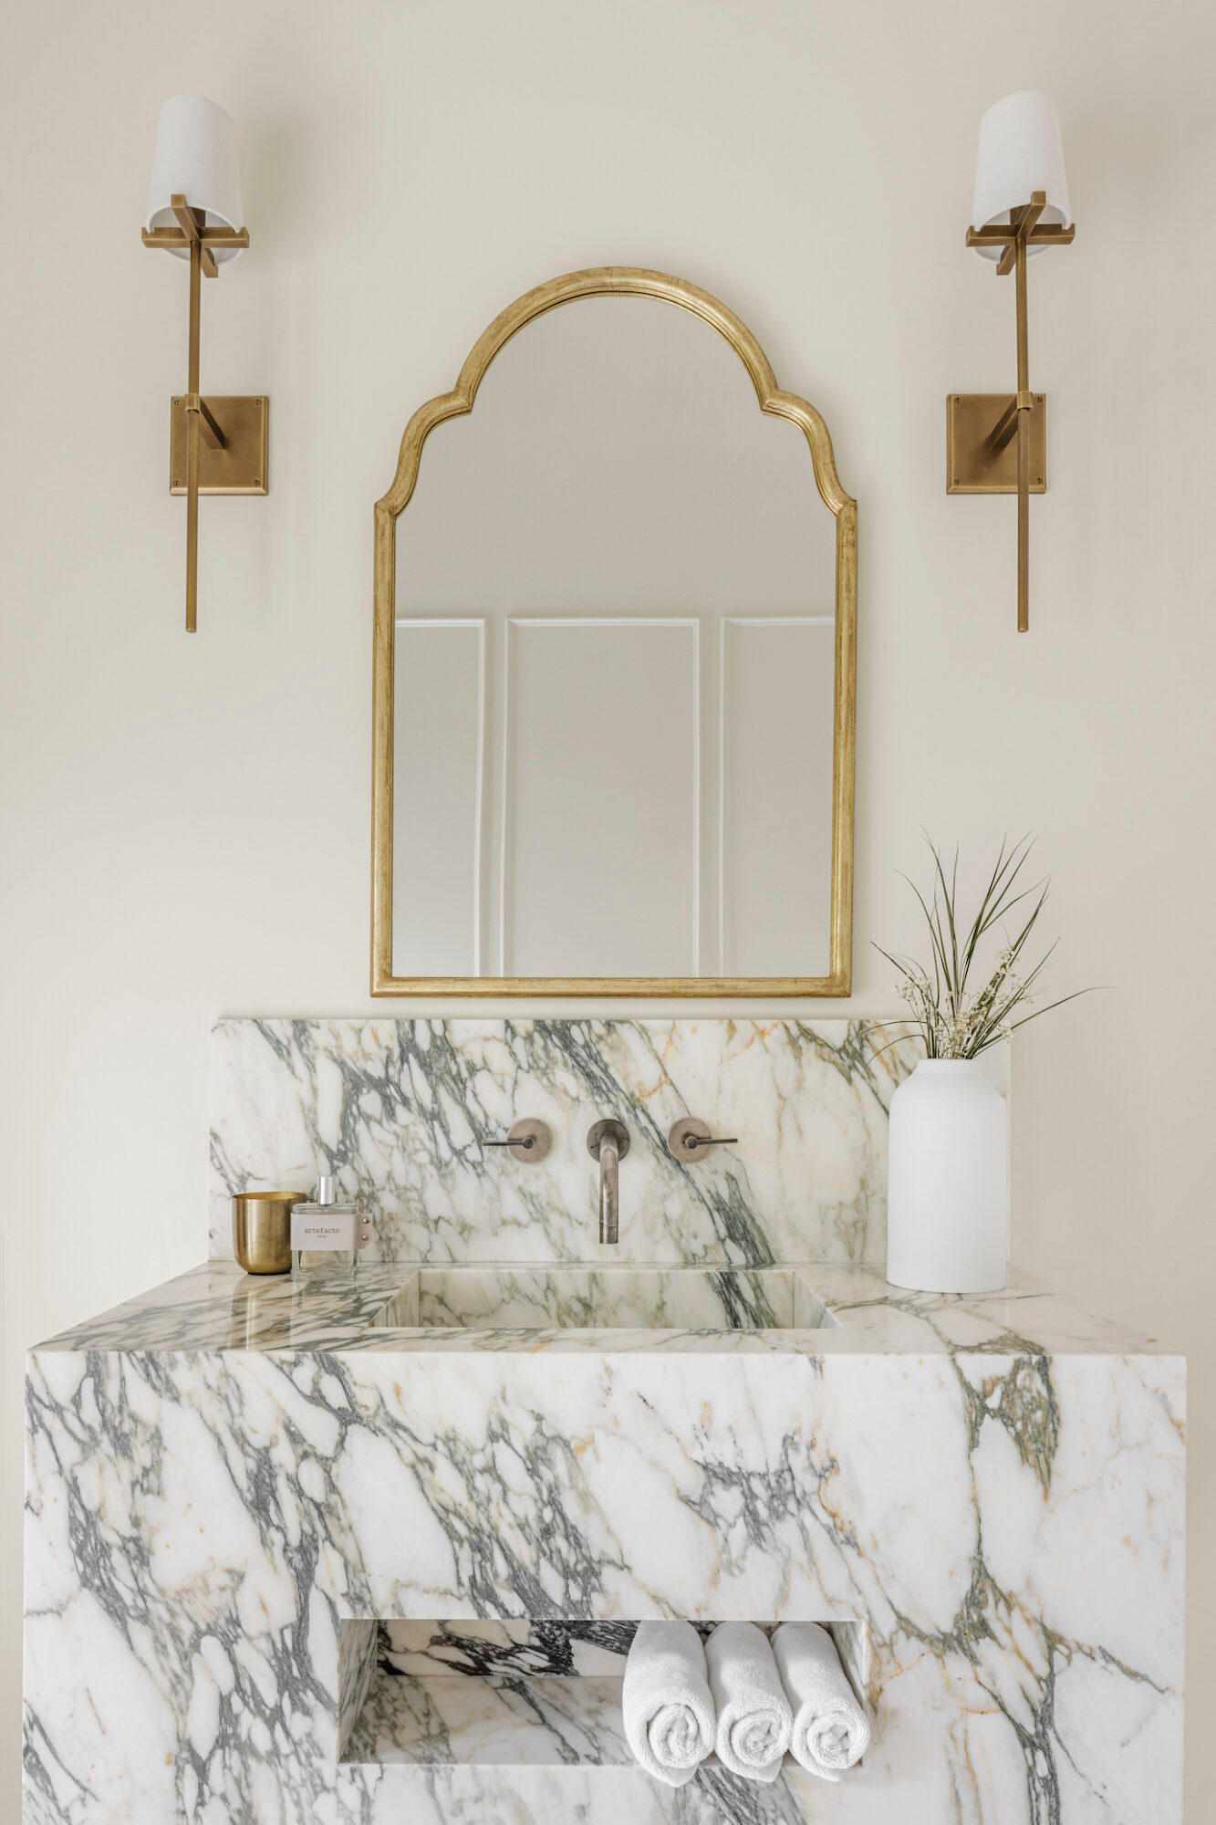
M714 1747L705 1648L692 1622L639 1622L621 1690L624 1739L646 1774L683 1787Z

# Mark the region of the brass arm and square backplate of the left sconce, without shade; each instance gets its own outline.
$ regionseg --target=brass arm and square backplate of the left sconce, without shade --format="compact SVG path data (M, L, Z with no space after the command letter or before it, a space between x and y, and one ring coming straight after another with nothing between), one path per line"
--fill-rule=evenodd
M173 400L170 427L170 493L186 496L186 633L197 630L199 610L199 495L265 495L265 398L212 398L199 392L203 279L219 274L215 250L248 246L248 228L208 228L201 210L173 193L175 228L144 228L144 246L190 254L190 338L186 392ZM184 464L181 442L184 433ZM181 469L184 467L184 480Z

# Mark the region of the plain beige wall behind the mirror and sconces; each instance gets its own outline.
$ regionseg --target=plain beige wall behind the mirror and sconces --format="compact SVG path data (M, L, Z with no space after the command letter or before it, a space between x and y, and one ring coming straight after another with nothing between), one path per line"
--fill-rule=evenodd
M484 323L579 265L739 310L860 500L849 1007L893 1006L869 940L915 936L922 825L1043 836L1061 984L1114 989L1019 1048L1015 1252L1192 1350L1201 1548L1212 9L46 0L5 40L4 1805L22 1350L201 1256L214 1015L369 1006L371 504ZM1017 639L1012 506L946 498L942 400L1012 381L1012 290L960 237L979 115L1026 84L1059 99L1079 234L1032 270L1052 491ZM181 88L239 122L254 235L208 288L204 385L274 400L274 493L206 506L192 641L164 489L184 276L137 237ZM1194 1794L1214 1767L1200 1725Z

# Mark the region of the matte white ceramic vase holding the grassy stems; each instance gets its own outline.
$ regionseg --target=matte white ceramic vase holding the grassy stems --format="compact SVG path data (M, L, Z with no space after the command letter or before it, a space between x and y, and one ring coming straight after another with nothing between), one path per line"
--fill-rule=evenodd
M1004 1097L975 1058L922 1058L891 1097L887 1279L995 1292L1008 1219Z

